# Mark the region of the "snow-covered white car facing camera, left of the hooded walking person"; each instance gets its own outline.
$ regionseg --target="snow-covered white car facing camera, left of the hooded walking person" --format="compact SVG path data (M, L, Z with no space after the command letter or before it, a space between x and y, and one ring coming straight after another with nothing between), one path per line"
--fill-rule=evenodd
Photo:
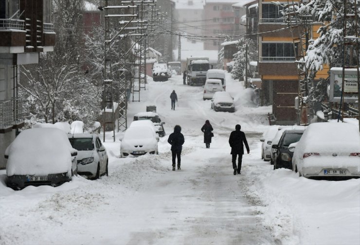
M143 122L150 122L149 120L132 122L130 127L125 131L125 135L120 144L120 157L138 157L149 154L158 154L159 136L155 129L149 127ZM138 125L133 123L141 122ZM141 125L143 124L143 125ZM151 123L152 124L152 123ZM154 127L154 125L152 125Z

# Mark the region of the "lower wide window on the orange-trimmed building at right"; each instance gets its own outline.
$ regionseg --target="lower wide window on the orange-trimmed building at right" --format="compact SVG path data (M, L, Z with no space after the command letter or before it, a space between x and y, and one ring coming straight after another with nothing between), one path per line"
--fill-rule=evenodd
M293 43L285 42L262 42L261 43L261 60L262 61L294 61L294 46ZM297 52L298 45L295 44L295 50Z

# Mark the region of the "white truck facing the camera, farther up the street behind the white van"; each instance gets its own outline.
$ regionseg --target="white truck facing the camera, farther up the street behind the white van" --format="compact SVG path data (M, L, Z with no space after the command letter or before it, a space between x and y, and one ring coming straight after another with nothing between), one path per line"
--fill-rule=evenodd
M187 85L204 85L206 72L212 69L209 64L209 57L187 57L186 59L186 80Z

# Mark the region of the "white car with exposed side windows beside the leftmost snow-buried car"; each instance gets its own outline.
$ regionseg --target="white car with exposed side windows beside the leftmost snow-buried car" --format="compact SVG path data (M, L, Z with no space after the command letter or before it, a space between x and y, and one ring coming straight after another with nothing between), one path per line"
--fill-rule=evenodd
M96 134L68 134L72 148L77 150L77 173L89 179L108 176L108 154Z

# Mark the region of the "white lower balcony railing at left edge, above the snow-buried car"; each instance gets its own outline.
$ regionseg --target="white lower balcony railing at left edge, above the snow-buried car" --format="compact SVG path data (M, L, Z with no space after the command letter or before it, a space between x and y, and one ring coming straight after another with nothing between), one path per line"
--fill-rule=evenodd
M20 98L0 101L0 129L11 127L22 121L22 100Z

